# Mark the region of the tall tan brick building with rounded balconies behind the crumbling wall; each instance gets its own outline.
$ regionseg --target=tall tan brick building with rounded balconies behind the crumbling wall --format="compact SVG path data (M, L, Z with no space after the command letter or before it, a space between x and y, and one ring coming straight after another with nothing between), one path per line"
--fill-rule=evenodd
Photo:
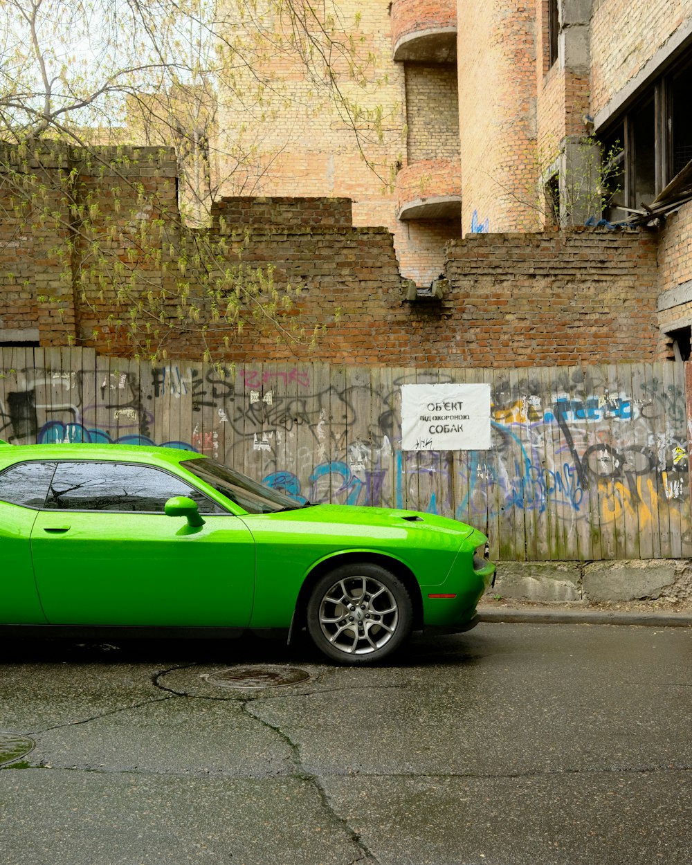
M381 142L366 146L375 170L338 115L285 109L258 136L254 188L349 197L354 225L388 227L402 275L420 288L443 270L450 240L580 226L599 221L604 204L621 221L643 213L692 157L692 0L339 6L345 21L359 13L356 35L381 82L356 97L386 118ZM234 176L221 189L245 194ZM689 324L679 290L689 279L687 210L660 234L670 333Z

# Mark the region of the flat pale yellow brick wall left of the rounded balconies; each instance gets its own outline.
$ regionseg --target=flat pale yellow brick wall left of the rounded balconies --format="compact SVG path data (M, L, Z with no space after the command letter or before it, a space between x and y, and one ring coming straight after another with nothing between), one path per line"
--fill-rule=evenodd
M356 16L360 16L359 28ZM371 79L368 86L356 85L338 48L330 52L341 91L360 108L381 112L381 138L367 114L349 119L343 104L335 104L328 86L308 80L296 57L279 52L264 59L263 71L274 80L271 88L264 89L261 101L247 104L253 102L257 86L252 70L236 74L240 93L244 89L247 99L229 92L219 94L220 133L212 144L220 196L381 197L390 166L404 149L404 70L392 61L390 22L388 3L339 3L336 40L343 42L347 53L355 51L361 59L372 55L372 65L363 63ZM340 34L341 24L345 32ZM279 25L268 22L267 26ZM239 151L240 165L236 162ZM364 157L375 170L368 170Z

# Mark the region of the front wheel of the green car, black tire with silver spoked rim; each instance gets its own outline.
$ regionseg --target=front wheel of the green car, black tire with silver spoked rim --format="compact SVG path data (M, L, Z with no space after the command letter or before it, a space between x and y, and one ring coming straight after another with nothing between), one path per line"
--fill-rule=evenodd
M413 630L407 587L369 562L342 565L317 581L307 606L312 642L336 663L379 663Z

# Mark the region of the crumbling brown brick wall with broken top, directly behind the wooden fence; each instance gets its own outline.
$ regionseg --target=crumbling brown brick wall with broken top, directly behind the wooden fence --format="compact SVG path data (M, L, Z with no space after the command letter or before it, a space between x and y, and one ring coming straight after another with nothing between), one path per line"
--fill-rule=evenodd
M31 231L19 231L21 223L7 211L0 220L0 317L6 328L38 326L42 345L64 345L74 336L77 344L127 355L131 345L118 322L134 309L143 327L148 322L159 327L157 338L170 356L200 358L208 346L228 362L298 356L340 363L513 368L647 361L663 351L654 234L476 234L452 240L443 263L449 280L445 298L412 303L405 299L392 234L386 228L349 227L347 202L340 200L281 199L271 221L265 217L273 202L266 200L234 199L218 208L226 216L219 233L228 241L229 264L241 259L251 267L271 265L276 283L304 287L293 312L299 312L308 331L326 327L316 349L278 343L275 330L260 331L253 324L240 336L211 329L202 337L195 327L184 333L174 327L166 336L167 324L176 320L176 295L170 295L168 322L152 325L147 293L174 292L173 273L184 258L190 291L204 290L194 249L176 253L175 163L155 149L132 151L126 158L104 153L98 165L82 166L78 192L93 214L90 232L100 235L100 248L107 249L100 260L82 236L68 262L73 269L65 267L61 219L37 220ZM245 222L233 223L231 215ZM298 222L298 215L316 224ZM238 236L245 242L234 244ZM674 257L673 246L665 247L662 261L671 272ZM141 292L139 310L119 298L118 269L131 289ZM57 298L50 304L40 300L47 291ZM62 317L56 307L63 308ZM337 307L341 317L335 322Z

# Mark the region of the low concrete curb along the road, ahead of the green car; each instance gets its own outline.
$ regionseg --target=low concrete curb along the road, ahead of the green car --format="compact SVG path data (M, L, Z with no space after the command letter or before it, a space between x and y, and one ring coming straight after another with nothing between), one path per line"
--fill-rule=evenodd
M688 612L605 612L603 610L478 610L480 624L528 625L640 625L657 628L690 628Z

